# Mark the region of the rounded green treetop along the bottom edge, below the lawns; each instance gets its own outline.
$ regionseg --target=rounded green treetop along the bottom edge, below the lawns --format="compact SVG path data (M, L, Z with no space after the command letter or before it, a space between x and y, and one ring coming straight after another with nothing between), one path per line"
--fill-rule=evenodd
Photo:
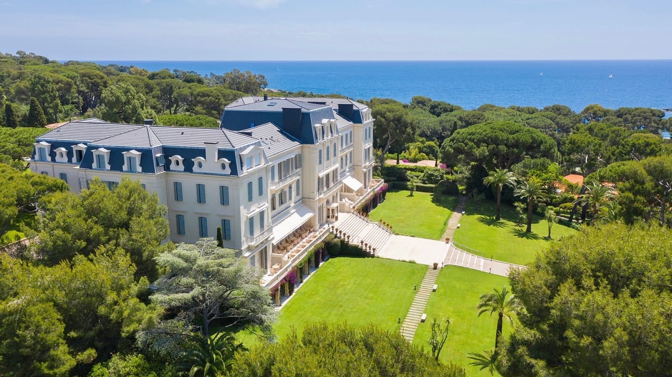
M261 343L233 362L235 376L465 376L440 364L397 332L307 325L277 343Z

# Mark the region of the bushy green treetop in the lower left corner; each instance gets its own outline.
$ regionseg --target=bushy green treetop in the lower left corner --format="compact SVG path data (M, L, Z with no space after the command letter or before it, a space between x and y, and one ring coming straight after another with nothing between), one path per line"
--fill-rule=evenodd
M68 376L108 358L157 315L134 272L128 254L104 247L51 267L0 254L0 374Z

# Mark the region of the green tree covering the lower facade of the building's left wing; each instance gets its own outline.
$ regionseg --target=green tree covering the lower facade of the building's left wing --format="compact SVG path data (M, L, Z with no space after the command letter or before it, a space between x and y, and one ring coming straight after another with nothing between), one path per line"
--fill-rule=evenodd
M42 199L34 252L56 264L99 246L120 247L130 254L138 276L156 278L155 256L171 248L165 205L138 181L122 178L112 191L95 178L80 195L54 193Z

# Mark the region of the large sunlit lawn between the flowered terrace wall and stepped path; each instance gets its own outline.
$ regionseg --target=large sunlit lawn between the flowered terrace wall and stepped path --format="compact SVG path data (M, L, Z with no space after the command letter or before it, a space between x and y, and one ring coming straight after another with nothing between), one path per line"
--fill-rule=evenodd
M397 330L406 317L427 266L381 258L331 258L320 266L280 310L274 330L279 337L308 323L368 323ZM255 335L238 333L246 345Z

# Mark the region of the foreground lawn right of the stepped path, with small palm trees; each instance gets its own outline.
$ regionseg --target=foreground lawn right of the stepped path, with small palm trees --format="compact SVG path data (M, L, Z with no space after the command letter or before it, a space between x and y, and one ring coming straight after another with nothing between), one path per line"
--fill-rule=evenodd
M490 376L487 370L479 371L477 367L468 365L472 361L467 358L470 352L482 352L495 347L497 314L491 317L485 313L478 317L476 305L481 294L509 285L509 279L464 267L446 266L439 273L436 284L437 291L431 294L425 309L427 321L419 325L413 343L425 347L431 353L427 345L431 321L434 317L449 317L453 322L448 341L441 352L441 360L451 360L464 366L468 376ZM511 325L505 322L504 336L508 336L510 331Z

